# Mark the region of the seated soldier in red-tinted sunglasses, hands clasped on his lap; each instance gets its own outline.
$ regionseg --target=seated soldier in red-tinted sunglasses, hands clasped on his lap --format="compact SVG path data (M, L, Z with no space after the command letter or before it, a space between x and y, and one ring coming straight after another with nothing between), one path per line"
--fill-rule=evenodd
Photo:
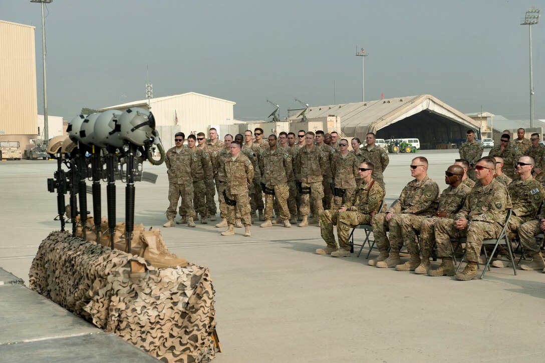
M490 156L479 159L475 165L477 182L465 199L464 206L456 214L455 220L442 218L435 223L435 242L437 254L443 261L429 276L453 276L451 238L466 237L468 264L457 280L467 281L477 278L477 263L483 239L498 238L505 223L507 209L511 208L511 198L507 188L494 178L496 161Z

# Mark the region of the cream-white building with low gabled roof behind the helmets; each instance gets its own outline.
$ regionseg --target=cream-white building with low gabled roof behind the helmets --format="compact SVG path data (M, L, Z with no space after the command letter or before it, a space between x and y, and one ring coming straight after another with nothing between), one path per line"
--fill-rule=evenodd
M233 101L195 92L152 98L150 100L156 129L159 131L165 150L173 146L174 134L178 131L184 132L186 138L187 135L196 135L197 132L204 132L208 137L210 127L233 125L233 107L235 104L236 102ZM105 107L99 111L125 111L131 107L141 107L147 110L148 100L144 99ZM178 118L178 123L176 123L176 118Z

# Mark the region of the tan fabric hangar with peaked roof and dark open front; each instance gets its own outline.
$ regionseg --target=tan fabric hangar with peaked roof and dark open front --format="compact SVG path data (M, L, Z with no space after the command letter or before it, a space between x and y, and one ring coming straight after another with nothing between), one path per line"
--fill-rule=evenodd
M477 135L481 130L481 122L429 94L310 107L306 112L308 121L328 116L341 118L341 131L347 137L364 140L367 132L385 139L414 137L420 139L422 149L465 138L468 129Z

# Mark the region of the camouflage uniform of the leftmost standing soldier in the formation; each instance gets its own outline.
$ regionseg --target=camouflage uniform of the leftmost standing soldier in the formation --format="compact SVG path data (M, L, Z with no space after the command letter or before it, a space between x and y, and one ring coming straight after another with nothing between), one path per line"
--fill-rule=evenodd
M182 148L179 153L176 147L168 149L165 156L168 176L168 202L167 219L173 220L176 216L178 199L181 198L180 216L195 217L193 210L193 180L191 169L194 166L191 158L191 150Z

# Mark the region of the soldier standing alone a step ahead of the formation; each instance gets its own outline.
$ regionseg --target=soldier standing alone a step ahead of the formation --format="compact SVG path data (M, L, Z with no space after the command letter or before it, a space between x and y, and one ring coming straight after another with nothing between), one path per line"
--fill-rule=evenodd
M231 156L227 156L223 164L225 174L225 190L223 198L227 204L227 231L221 235L233 235L235 223L235 206L240 209L244 219L245 237L250 237L252 219L250 216L250 198L248 185L253 181L253 166L250 159L240 152L242 145L238 141L231 143Z

